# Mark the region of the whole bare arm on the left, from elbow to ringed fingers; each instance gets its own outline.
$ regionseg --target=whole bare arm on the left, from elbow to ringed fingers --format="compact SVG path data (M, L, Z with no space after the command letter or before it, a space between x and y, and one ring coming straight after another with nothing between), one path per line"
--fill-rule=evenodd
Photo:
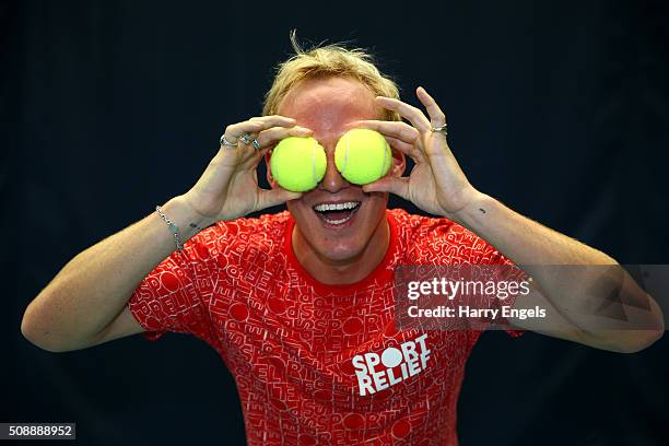
M242 141L249 133L260 150ZM256 167L277 141L306 137L312 131L282 116L265 116L232 125L198 183L168 200L163 210L183 231L232 220L298 198L285 189L258 187ZM189 224L190 223L190 224ZM195 226L192 226L195 224ZM62 352L84 349L143 331L128 307L133 291L175 249L175 239L156 212L91 246L71 259L26 307L21 331L42 349Z

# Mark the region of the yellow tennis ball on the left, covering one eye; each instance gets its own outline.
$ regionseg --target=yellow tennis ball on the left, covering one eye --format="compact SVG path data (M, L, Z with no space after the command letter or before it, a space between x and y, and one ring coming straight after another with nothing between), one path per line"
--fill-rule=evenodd
M326 165L325 150L312 137L282 139L270 159L271 173L277 183L293 192L315 188L325 176Z

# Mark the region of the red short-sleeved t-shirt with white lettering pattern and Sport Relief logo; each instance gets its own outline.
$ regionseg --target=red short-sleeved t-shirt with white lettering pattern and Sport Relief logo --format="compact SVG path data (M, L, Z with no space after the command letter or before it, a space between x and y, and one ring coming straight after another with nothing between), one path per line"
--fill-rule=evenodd
M465 363L481 331L396 330L394 268L513 263L448 219L387 218L382 263L350 285L302 268L287 211L218 222L142 280L129 308L148 339L188 332L219 352L249 445L456 445Z

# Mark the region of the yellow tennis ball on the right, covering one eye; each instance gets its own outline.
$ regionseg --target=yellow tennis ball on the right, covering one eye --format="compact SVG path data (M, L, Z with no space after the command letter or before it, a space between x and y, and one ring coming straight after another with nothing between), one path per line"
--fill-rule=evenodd
M349 130L334 148L337 169L354 185L376 181L388 173L391 164L390 145L376 130Z

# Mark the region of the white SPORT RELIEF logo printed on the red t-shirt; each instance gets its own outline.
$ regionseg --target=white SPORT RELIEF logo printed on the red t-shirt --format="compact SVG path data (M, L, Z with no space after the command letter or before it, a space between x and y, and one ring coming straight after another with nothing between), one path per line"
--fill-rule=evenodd
M424 371L430 359L426 339L427 334L422 334L403 342L399 349L389 347L380 356L374 352L353 356L360 396L387 389Z

